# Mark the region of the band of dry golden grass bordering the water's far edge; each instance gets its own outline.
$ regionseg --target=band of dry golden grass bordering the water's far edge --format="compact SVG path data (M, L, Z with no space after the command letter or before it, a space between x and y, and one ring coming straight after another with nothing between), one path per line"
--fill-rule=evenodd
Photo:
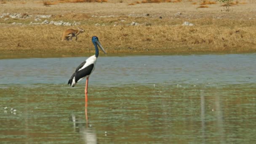
M7 26L0 33L1 53L93 53L91 37L97 35L108 53L240 53L255 52L256 21L198 19L197 26L81 25L87 32L77 42L61 42L70 27L55 25ZM157 20L155 23L159 23ZM210 22L210 23L209 23ZM243 26L243 27L240 27ZM13 35L12 32L16 32ZM42 35L43 34L43 35ZM150 35L149 35L150 34ZM18 51L17 51L18 50Z

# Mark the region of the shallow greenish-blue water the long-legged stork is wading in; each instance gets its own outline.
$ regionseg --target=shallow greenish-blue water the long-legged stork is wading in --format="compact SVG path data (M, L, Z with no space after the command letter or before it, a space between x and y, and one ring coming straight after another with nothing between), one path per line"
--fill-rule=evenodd
M251 143L255 57L99 57L88 123L85 80L67 85L86 58L1 59L0 142Z

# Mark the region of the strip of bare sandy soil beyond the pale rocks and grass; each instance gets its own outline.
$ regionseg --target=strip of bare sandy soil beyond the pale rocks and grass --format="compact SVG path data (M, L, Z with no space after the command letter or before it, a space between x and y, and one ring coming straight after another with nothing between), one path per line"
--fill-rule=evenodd
M255 19L256 1L240 0L245 4L233 5L227 14L221 3L208 5L209 8L197 8L202 0L183 0L180 3L141 3L128 5L132 0L109 0L107 3L59 3L56 5L44 6L41 0L38 1L11 1L1 4L1 13L29 13L42 15L58 15L64 13L86 13L95 16L123 16L139 15L149 13L151 16L173 17L180 12L183 17L188 19L197 19L202 17L227 17L230 19ZM136 2L136 1L132 1ZM195 2L197 4L193 5ZM22 4L24 3L24 4ZM221 12L223 11L223 12Z

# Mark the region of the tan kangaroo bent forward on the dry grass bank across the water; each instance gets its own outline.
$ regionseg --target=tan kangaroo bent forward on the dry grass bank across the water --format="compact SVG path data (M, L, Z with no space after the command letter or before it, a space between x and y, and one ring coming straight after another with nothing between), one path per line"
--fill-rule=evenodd
M75 37L75 40L77 40L77 35L79 35L80 33L83 33L85 31L81 27L77 26L77 28L78 28L78 30L76 30L76 29L67 29L67 30L65 30L63 32L61 41L63 41L63 40L71 41L72 37Z

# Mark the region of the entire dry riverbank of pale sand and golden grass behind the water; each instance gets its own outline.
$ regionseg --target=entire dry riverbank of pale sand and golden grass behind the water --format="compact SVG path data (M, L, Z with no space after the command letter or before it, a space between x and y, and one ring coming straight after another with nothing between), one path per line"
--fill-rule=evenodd
M23 16L0 18L0 51L6 57L91 54L93 35L99 37L109 54L256 52L256 3L250 0L233 5L229 12L220 3L198 8L200 0L135 5L128 5L128 0L113 0L49 7L41 1L20 2L0 4L0 15ZM184 25L185 21L192 26ZM85 32L78 35L77 42L61 42L65 29L76 29L70 24L78 24Z

